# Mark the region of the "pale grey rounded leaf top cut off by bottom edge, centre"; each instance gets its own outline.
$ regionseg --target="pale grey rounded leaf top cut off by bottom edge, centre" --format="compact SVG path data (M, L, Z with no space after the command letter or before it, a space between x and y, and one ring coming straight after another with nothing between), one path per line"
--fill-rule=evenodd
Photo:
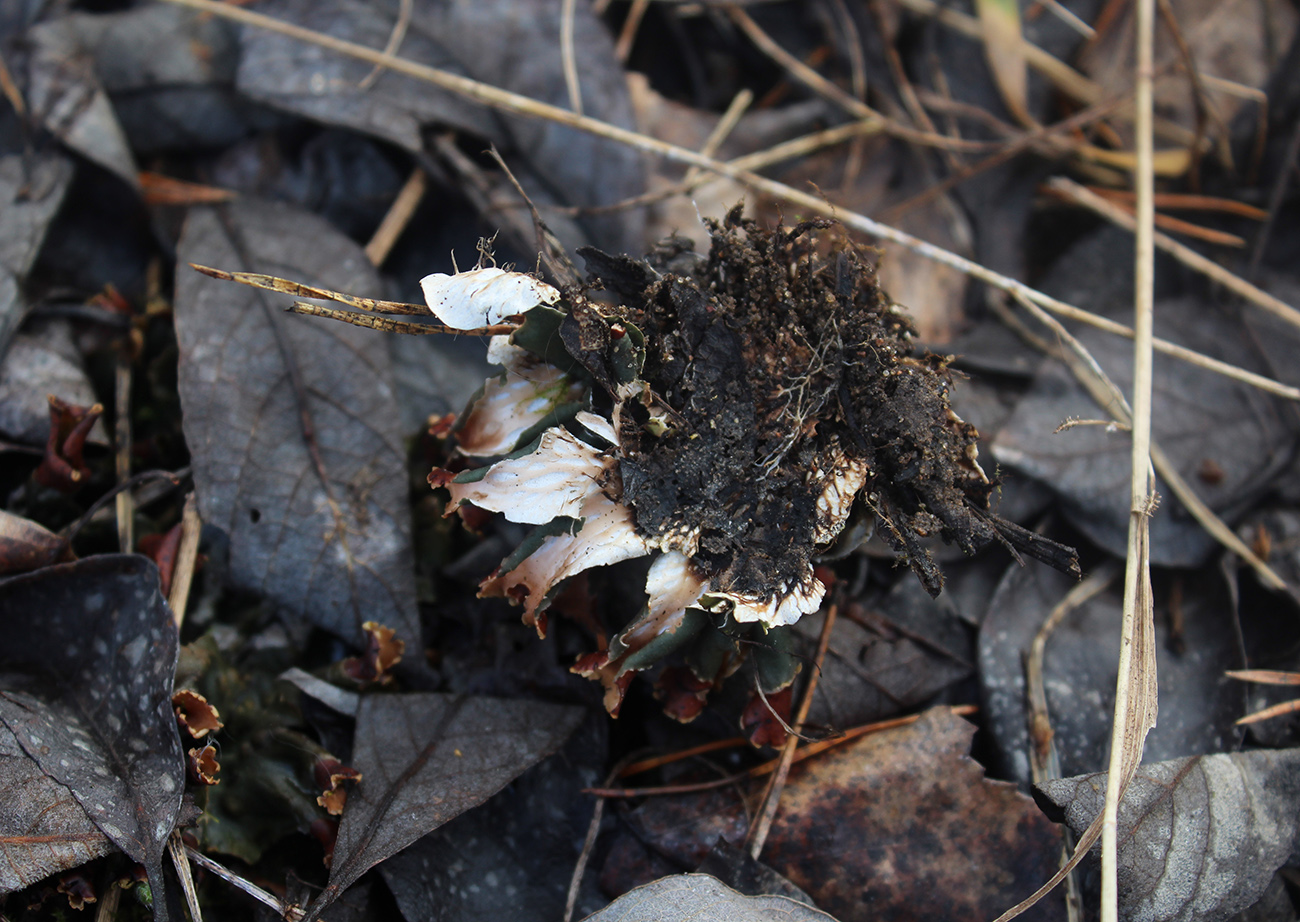
M585 922L833 922L784 896L744 896L707 874L662 878L624 893Z

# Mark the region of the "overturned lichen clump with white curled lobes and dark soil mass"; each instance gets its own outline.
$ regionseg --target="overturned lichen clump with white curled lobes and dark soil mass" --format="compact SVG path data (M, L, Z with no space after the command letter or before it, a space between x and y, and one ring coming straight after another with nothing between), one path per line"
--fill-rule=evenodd
M538 525L481 586L546 629L560 584L658 554L638 616L575 671L616 711L632 672L682 649L716 683L758 640L760 684L789 683L788 627L816 611L814 560L850 518L881 533L932 594L940 537L1062 568L1072 551L989 512L975 428L949 406L948 359L919 352L875 269L831 221L772 230L733 211L706 256L670 239L645 259L578 251L590 283L540 304L489 358L436 469L450 508ZM849 529L861 540L862 529Z

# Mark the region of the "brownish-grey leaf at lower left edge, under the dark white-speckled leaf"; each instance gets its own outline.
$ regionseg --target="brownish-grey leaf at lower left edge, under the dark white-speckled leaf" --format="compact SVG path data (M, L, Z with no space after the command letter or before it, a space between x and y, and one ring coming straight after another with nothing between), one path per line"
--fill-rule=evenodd
M0 724L0 893L84 865L113 850L73 798Z

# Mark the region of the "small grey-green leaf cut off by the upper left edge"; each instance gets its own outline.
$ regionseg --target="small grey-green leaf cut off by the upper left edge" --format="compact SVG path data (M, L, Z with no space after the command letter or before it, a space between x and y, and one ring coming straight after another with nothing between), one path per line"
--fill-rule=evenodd
M27 313L18 290L64 202L73 165L61 156L0 157L0 359Z

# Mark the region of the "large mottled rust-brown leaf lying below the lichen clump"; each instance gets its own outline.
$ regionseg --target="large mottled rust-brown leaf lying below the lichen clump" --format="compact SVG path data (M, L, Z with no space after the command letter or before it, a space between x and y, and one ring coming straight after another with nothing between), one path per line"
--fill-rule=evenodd
M763 862L844 922L996 917L1052 875L1061 839L1015 785L984 778L967 756L974 733L936 709L796 765ZM719 835L745 835L746 815L733 792L708 791L651 801L629 822L658 856L696 867ZM616 849L623 878L607 887L655 867L629 850ZM1056 918L1058 899L1028 918Z

